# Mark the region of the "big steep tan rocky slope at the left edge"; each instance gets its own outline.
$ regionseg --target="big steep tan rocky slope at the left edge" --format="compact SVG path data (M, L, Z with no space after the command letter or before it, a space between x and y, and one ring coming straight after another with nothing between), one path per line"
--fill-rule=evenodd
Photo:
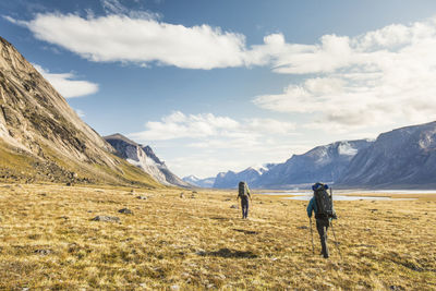
M3 180L158 185L112 155L114 149L1 37L0 151Z

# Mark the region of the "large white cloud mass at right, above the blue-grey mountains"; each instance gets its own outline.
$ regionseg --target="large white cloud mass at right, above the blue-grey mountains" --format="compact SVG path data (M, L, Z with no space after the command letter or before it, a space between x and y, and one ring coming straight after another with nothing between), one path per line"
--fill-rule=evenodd
M281 47L270 60L276 72L312 75L281 94L257 96L258 107L307 113L307 128L343 132L436 119L436 19L353 38L324 36L300 52L274 43Z

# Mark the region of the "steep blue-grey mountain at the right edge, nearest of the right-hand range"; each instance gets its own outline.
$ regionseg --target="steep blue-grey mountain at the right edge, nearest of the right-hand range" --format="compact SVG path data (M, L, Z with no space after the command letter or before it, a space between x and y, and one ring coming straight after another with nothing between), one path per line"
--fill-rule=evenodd
M380 134L358 153L338 183L364 187L436 187L436 122Z

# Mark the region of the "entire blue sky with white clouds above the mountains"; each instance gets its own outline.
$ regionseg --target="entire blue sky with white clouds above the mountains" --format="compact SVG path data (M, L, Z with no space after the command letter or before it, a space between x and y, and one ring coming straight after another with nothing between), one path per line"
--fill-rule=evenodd
M2 1L0 35L177 174L436 119L435 1Z

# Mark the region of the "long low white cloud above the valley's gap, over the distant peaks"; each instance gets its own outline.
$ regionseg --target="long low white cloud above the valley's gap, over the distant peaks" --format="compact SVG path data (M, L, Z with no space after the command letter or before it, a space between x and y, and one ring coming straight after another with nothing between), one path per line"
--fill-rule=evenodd
M245 147L259 143L259 138L274 134L293 134L295 125L272 119L245 119L237 121L211 113L184 114L180 111L161 121L148 121L146 130L132 133L141 141L168 141L193 138L193 147Z

